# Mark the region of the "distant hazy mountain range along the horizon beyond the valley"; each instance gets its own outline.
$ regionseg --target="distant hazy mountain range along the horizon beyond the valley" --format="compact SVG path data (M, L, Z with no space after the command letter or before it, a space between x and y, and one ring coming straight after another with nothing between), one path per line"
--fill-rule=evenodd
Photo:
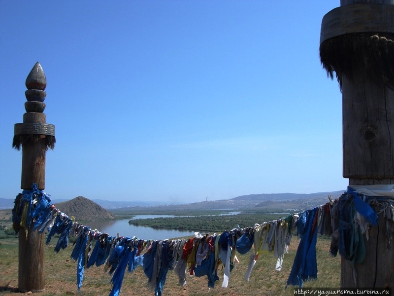
M176 208L193 208L193 209L203 209L203 208L211 208L211 209L229 209L229 208L250 208L256 207L258 204L263 203L264 201L271 201L269 203L263 203L263 206L267 208L283 208L286 204L314 204L314 203L324 203L328 201L328 195L330 195L333 199L339 197L345 190L339 191L330 191L330 192L317 192L310 194L300 194L300 193L262 193L262 194L249 194L249 195L241 195L231 199L222 199L222 200L213 200L213 201L202 201L191 204L177 204ZM83 196L79 196L83 197ZM77 197L78 198L78 197ZM85 198L85 197L83 197ZM86 198L87 199L87 198ZM88 199L89 200L89 199ZM69 200L68 200L69 201ZM143 208L143 207L152 207L152 208L165 208L165 207L174 207L171 205L164 205L163 201L160 202L147 202L147 201L109 201L102 199L93 199L90 200L101 206L106 210L114 210L121 208ZM285 203L286 201L286 203ZM52 203L56 205L58 209L61 209L59 206L64 206L67 204L67 200L65 199L53 199ZM0 209L12 209L14 207L14 200L7 198L0 198ZM61 209L64 211L63 209ZM126 210L126 209L125 209ZM66 211L65 211L66 213ZM67 214L67 213L66 213ZM67 214L68 215L68 214Z

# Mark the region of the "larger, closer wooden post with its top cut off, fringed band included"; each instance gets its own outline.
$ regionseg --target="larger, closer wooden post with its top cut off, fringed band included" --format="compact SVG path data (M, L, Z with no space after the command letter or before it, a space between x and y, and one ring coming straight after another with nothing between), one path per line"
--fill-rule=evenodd
M322 21L320 57L342 90L343 177L349 185L394 184L394 0L341 0ZM342 259L342 287L393 287L386 219L365 239L357 280Z

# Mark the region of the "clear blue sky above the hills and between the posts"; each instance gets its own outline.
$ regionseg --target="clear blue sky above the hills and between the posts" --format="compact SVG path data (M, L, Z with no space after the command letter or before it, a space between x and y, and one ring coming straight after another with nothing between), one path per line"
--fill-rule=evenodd
M53 199L194 202L345 189L342 107L319 59L339 0L0 0L0 185L21 192L39 61Z

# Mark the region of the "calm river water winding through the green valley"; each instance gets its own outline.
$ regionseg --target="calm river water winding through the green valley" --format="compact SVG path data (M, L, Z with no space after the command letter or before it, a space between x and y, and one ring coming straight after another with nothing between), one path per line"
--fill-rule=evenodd
M221 215L234 215L240 212L232 212ZM168 217L172 218L175 216L171 215L137 215L132 219L147 219L147 218L161 218ZM105 221L89 221L86 222L88 226L92 229L97 229L101 233L108 233L109 235L116 236L118 233L120 236L130 236L137 237L143 240L163 240L163 239L171 239L176 237L193 237L194 231L189 230L177 230L177 229L157 229L147 226L134 226L129 224L130 219L122 219L122 220L105 220Z

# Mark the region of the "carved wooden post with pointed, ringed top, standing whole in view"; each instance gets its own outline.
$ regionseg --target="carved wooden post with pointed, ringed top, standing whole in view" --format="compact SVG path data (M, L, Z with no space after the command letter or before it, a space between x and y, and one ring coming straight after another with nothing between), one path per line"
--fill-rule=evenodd
M45 154L48 148L55 145L55 126L45 123L46 78L37 62L26 79L25 93L26 113L23 123L14 127L12 146L22 146L21 189L31 190L33 183L37 188L45 188ZM22 292L39 292L45 288L45 253L44 233L33 231L33 223L29 231L19 231L19 290Z

